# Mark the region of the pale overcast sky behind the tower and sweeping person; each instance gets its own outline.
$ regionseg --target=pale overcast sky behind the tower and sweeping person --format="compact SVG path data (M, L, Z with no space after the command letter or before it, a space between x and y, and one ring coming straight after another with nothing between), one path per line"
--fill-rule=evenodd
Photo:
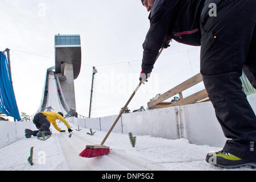
M118 114L139 84L142 43L150 23L140 0L8 0L0 6L0 51L10 48L11 73L19 112L34 114L42 99L47 68L55 65L54 36L81 36L82 65L75 80L77 113L88 117L92 66L92 117ZM131 111L199 73L200 47L172 42ZM196 85L184 96L203 89ZM171 99L167 100L170 101Z

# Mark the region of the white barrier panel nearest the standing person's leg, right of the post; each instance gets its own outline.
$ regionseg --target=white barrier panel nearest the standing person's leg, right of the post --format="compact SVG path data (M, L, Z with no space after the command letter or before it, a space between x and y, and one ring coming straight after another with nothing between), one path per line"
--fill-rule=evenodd
M223 147L226 138L211 102L180 106L183 138L193 144Z

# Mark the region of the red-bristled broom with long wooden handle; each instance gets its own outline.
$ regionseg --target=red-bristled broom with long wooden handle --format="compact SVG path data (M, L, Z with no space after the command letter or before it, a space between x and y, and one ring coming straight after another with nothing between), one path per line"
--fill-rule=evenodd
M160 56L160 53L162 53L164 49L164 46L160 49L158 56L156 57L156 60L158 59L158 57ZM155 60L155 61L156 61ZM112 132L112 130L115 127L115 124L117 124L119 118L121 117L121 115L123 114L123 112L125 111L126 107L128 106L128 104L130 103L131 99L133 98L133 96L135 95L135 93L137 92L137 90L139 89L139 87L142 84L142 80L139 82L139 85L137 86L137 88L134 90L133 94L131 94L131 97L129 98L129 100L126 102L126 105L123 107L122 111L119 113L117 119L115 119L115 122L113 123L112 127L110 128L109 132L106 134L105 138L102 140L101 144L98 145L86 145L85 150L83 150L79 156L83 157L83 158L94 158L97 156L102 156L102 155L108 155L110 152L110 147L108 146L104 146L104 143L106 141L106 139L109 137L109 134Z

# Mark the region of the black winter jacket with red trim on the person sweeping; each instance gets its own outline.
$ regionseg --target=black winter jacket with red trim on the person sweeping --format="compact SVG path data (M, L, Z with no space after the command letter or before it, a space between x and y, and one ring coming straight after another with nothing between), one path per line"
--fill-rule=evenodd
M143 43L142 71L151 73L164 39L200 46L200 15L205 0L155 0L150 11L150 29Z

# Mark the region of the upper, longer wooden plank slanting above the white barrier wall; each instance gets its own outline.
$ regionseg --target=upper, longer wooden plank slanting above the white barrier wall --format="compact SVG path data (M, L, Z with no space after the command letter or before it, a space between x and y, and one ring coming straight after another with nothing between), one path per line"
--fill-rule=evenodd
M197 75L189 78L187 81L184 81L183 83L175 86L175 88L172 88L171 90L168 90L167 92L160 95L157 99L152 100L147 103L148 108L151 108L152 106L159 104L160 102L167 100L168 98L175 96L176 94L182 92L185 89L190 88L193 85L196 85L203 81L203 78L201 76L201 73L198 73Z

